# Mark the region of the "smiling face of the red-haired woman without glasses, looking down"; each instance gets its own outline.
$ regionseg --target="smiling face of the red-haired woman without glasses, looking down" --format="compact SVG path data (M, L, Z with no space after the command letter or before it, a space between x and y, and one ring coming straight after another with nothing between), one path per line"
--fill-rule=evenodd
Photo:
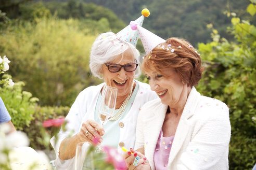
M187 98L188 87L182 83L180 76L173 69L164 72L164 75L169 75L168 77L161 75L156 69L145 74L149 79L151 90L157 93L163 104L174 108L180 105L184 97Z

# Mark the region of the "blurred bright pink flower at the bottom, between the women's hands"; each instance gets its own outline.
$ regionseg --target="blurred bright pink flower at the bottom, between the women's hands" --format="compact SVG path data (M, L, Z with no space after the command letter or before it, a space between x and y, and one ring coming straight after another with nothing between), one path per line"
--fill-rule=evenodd
M107 154L106 162L112 163L114 165L114 168L117 170L125 170L126 163L123 159L122 155L118 153L116 148L111 148L108 146L103 146L104 152Z

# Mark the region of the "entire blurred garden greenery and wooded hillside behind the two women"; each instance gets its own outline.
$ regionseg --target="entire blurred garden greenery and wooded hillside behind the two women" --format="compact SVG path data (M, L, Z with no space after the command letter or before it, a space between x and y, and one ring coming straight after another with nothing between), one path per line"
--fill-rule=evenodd
M99 33L117 33L143 8L143 26L167 39L183 37L199 49L205 67L196 87L225 102L232 138L229 169L256 163L256 1L67 0L0 1L0 55L11 61L14 87L0 96L17 129L34 149L44 149L38 125L66 116L75 97L101 80L89 70L89 51ZM142 43L137 45L144 53ZM3 76L3 75L0 75ZM139 80L145 81L140 76ZM48 130L50 133L50 129Z

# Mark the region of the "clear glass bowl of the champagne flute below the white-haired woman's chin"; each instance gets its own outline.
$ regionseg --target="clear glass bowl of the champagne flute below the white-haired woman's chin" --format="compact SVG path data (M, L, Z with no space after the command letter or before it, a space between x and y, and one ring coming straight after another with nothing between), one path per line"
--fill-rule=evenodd
M104 127L104 124L113 116L114 110L116 109L116 102L117 88L105 86L98 109L99 120L102 127Z

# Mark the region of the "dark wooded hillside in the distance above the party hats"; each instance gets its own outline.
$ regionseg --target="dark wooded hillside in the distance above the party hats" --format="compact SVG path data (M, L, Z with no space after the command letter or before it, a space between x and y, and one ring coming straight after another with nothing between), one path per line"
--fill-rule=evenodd
M248 17L241 9L245 9L249 1L228 0L83 0L97 5L102 5L113 10L125 23L135 20L140 16L143 8L148 8L151 15L144 21L143 26L158 36L167 39L171 36L183 37L192 44L207 43L211 40L210 31L206 25L212 23L221 36L232 39L233 36L226 32L230 25L224 12L233 11L237 16ZM256 20L253 20L256 22Z

